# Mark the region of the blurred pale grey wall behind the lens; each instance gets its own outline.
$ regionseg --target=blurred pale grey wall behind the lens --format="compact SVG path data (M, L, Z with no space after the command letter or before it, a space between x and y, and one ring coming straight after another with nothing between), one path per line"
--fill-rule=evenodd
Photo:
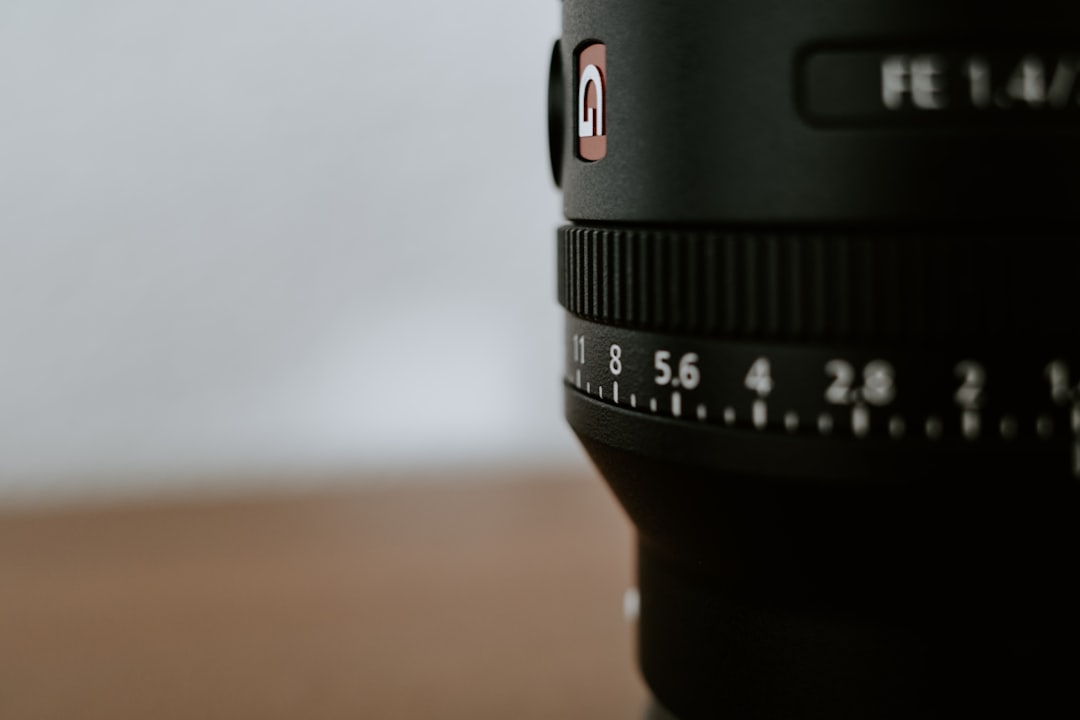
M559 9L0 3L0 501L577 460Z

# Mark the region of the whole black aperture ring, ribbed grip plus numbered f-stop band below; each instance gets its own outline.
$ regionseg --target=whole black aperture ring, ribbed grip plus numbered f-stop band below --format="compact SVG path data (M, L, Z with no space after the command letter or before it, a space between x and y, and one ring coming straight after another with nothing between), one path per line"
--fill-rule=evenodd
M566 227L568 415L717 471L910 477L1000 468L1005 451L1080 475L1072 247Z

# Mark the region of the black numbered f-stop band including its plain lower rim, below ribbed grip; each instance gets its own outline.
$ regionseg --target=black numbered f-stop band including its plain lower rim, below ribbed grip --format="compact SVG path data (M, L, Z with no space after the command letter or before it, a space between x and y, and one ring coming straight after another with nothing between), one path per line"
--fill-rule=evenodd
M575 315L564 339L570 424L658 460L774 476L904 478L942 463L990 472L1009 457L1028 481L1080 477L1074 345L1014 353L996 344L765 343Z

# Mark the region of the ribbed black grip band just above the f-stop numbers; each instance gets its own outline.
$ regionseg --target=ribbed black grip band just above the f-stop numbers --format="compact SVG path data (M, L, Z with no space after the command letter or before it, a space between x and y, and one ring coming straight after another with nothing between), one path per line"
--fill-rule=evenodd
M798 340L1080 332L1075 237L567 226L558 299L599 323Z

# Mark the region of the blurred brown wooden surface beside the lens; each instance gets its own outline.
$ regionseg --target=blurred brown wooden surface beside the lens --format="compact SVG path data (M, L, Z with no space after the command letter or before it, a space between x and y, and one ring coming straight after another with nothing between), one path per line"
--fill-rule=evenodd
M631 562L584 471L0 514L0 718L636 719Z

